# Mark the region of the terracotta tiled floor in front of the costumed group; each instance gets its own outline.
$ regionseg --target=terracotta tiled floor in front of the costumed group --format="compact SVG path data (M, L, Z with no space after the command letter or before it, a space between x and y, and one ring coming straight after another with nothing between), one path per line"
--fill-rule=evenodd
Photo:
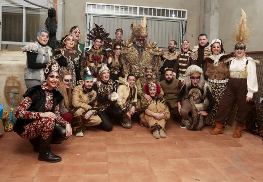
M131 129L114 125L113 131L85 130L51 150L59 163L37 160L28 140L16 133L0 136L0 181L263 181L262 138L247 133L233 138L234 127L209 135L166 122L167 138L154 139L149 129L133 124ZM240 154L243 156L233 156ZM241 162L241 163L240 163ZM235 164L239 166L236 166ZM241 165L240 165L241 164Z

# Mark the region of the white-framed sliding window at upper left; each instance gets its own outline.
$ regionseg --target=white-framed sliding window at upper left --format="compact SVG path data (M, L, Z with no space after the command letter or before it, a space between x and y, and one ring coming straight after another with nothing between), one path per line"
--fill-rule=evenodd
M47 10L42 8L2 6L2 44L37 41L37 31L45 28L46 18Z

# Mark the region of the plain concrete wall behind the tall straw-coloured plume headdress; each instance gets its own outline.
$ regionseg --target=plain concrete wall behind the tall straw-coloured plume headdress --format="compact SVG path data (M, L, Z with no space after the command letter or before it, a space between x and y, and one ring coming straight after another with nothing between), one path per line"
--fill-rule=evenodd
M263 50L263 1L262 0L220 0L218 38L222 39L226 53L234 51L234 41L231 40L232 30L236 20L241 18L241 8L247 15L247 25L251 25L254 34L248 40L247 51ZM213 37L216 38L216 37Z

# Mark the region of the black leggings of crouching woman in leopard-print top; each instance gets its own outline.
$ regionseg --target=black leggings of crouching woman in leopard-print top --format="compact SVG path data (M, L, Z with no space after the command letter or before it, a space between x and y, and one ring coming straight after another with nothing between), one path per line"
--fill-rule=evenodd
M104 131L111 131L112 130L112 122L110 119L117 119L120 120L123 115L123 110L116 106L109 106L104 111L100 111L98 116L101 118L100 126Z

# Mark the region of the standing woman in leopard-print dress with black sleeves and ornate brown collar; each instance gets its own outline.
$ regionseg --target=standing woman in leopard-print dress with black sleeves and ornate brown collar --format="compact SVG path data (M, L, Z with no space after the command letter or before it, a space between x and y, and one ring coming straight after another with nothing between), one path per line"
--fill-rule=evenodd
M62 44L62 42L64 44ZM54 49L53 59L58 61L62 70L70 72L72 89L76 87L76 82L81 80L80 70L78 67L79 55L74 48L74 37L72 35L64 36L59 44L59 48Z

